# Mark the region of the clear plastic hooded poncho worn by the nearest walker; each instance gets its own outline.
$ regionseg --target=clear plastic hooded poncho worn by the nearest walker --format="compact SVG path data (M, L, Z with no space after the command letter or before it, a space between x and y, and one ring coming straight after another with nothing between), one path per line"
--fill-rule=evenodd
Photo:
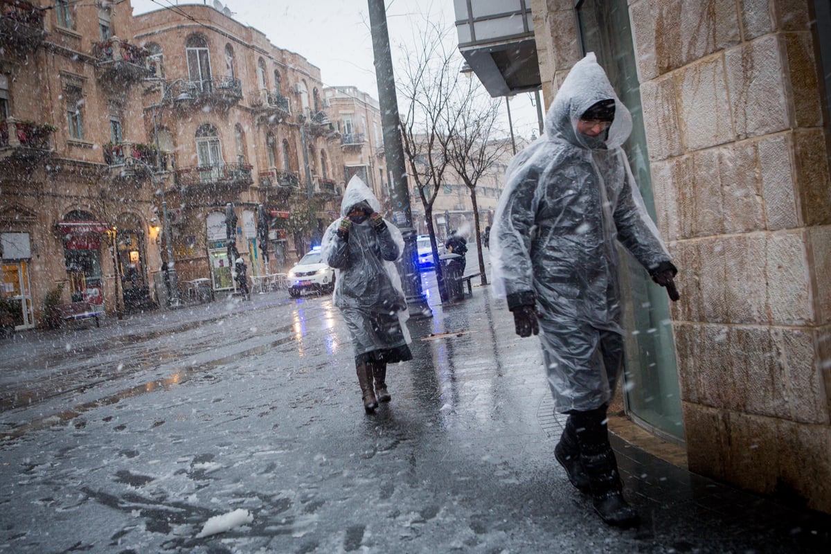
M607 99L615 101L607 134L578 133L580 116ZM600 352L603 333L622 334L617 243L647 268L670 260L621 148L631 131L629 110L588 54L563 81L543 136L509 164L494 214L494 289L509 304L535 303L560 411L597 408L619 376Z

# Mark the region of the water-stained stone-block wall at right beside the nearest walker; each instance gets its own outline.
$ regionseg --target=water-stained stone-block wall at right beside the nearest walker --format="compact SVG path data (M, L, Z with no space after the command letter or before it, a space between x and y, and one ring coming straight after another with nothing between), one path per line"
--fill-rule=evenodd
M637 95L622 98L641 108L630 157L680 270L669 347L689 467L831 512L821 3L531 6L548 104L585 51Z

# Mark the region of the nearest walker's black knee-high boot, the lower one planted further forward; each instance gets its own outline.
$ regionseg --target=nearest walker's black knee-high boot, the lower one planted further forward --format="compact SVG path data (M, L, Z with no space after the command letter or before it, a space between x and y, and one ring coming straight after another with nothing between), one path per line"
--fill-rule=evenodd
M612 452L612 445L609 444L606 406L588 412L575 412L572 415L580 449L580 462L588 476L595 512L609 525L637 525L637 512L623 498L617 460Z

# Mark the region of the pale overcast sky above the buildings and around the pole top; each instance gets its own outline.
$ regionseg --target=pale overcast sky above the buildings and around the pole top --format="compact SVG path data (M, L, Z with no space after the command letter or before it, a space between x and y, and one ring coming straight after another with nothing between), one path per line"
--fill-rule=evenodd
M366 0L219 0L238 22L265 33L274 46L297 52L320 68L324 85L356 86L378 98ZM176 5L176 0L131 0L135 14ZM204 3L179 2L179 4ZM207 0L214 5L214 0ZM392 62L398 67L399 45L409 42L412 29L425 15L430 21L455 21L453 0L387 0L387 27ZM455 32L453 34L455 38ZM396 77L397 77L396 71ZM530 138L537 129L533 96L511 100L514 134ZM504 115L507 129L507 114Z

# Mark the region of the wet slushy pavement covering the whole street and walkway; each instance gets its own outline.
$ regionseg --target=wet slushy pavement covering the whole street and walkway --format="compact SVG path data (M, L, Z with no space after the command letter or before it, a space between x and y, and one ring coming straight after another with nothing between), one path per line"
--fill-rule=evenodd
M538 342L490 287L443 307L431 276L372 415L328 296L0 342L0 552L831 552L828 516L617 438L643 522L604 527L553 460Z

